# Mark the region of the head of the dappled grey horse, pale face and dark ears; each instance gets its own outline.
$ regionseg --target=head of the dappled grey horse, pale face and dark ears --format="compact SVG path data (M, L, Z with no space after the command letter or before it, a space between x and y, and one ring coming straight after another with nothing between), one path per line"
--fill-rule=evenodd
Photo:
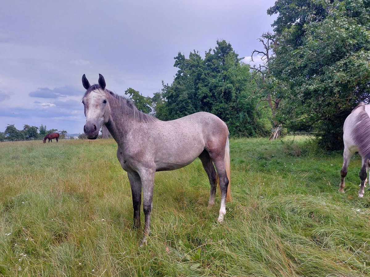
M109 121L110 93L105 89L104 77L99 74L99 85L90 85L85 74L82 76L82 84L86 89L85 95L82 98L84 104L84 112L86 116L86 123L84 132L87 138L95 139L98 137L99 130L103 124Z

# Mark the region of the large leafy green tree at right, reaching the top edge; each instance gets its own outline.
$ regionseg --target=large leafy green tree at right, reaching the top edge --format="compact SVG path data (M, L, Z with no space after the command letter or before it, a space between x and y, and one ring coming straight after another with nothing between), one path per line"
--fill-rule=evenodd
M344 119L369 100L370 1L278 0L268 13L279 13L271 68L290 86L283 122L341 148Z

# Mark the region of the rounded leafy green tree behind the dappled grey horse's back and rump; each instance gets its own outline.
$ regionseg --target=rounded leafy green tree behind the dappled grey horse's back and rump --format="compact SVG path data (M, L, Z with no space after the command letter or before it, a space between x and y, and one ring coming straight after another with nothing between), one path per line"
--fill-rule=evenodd
M164 85L155 95L164 99L166 119L176 119L194 112L216 114L236 136L256 136L268 133L266 114L255 109L257 98L251 97L255 81L250 66L240 64L240 58L230 43L217 41L215 49L209 49L204 59L198 51L189 58L178 53L178 68L174 82ZM157 112L157 107L155 108ZM267 126L266 126L267 125Z

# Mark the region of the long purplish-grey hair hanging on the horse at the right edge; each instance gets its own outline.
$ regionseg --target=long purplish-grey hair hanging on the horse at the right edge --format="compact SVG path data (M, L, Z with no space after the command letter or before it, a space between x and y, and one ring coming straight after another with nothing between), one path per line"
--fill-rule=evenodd
M361 156L370 158L370 117L365 110L365 103L361 102L353 111L359 108L361 109L358 111L355 119L353 139L359 148Z

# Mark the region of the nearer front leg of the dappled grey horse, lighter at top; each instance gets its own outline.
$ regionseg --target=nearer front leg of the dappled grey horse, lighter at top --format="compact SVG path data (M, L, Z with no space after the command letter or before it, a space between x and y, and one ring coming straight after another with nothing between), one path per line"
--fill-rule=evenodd
M145 227L144 236L139 244L139 247L143 246L147 242L147 236L150 233L150 215L153 207L153 187L154 187L154 174L155 169L147 169L144 172L140 172L142 193L144 196L143 210L145 215Z

